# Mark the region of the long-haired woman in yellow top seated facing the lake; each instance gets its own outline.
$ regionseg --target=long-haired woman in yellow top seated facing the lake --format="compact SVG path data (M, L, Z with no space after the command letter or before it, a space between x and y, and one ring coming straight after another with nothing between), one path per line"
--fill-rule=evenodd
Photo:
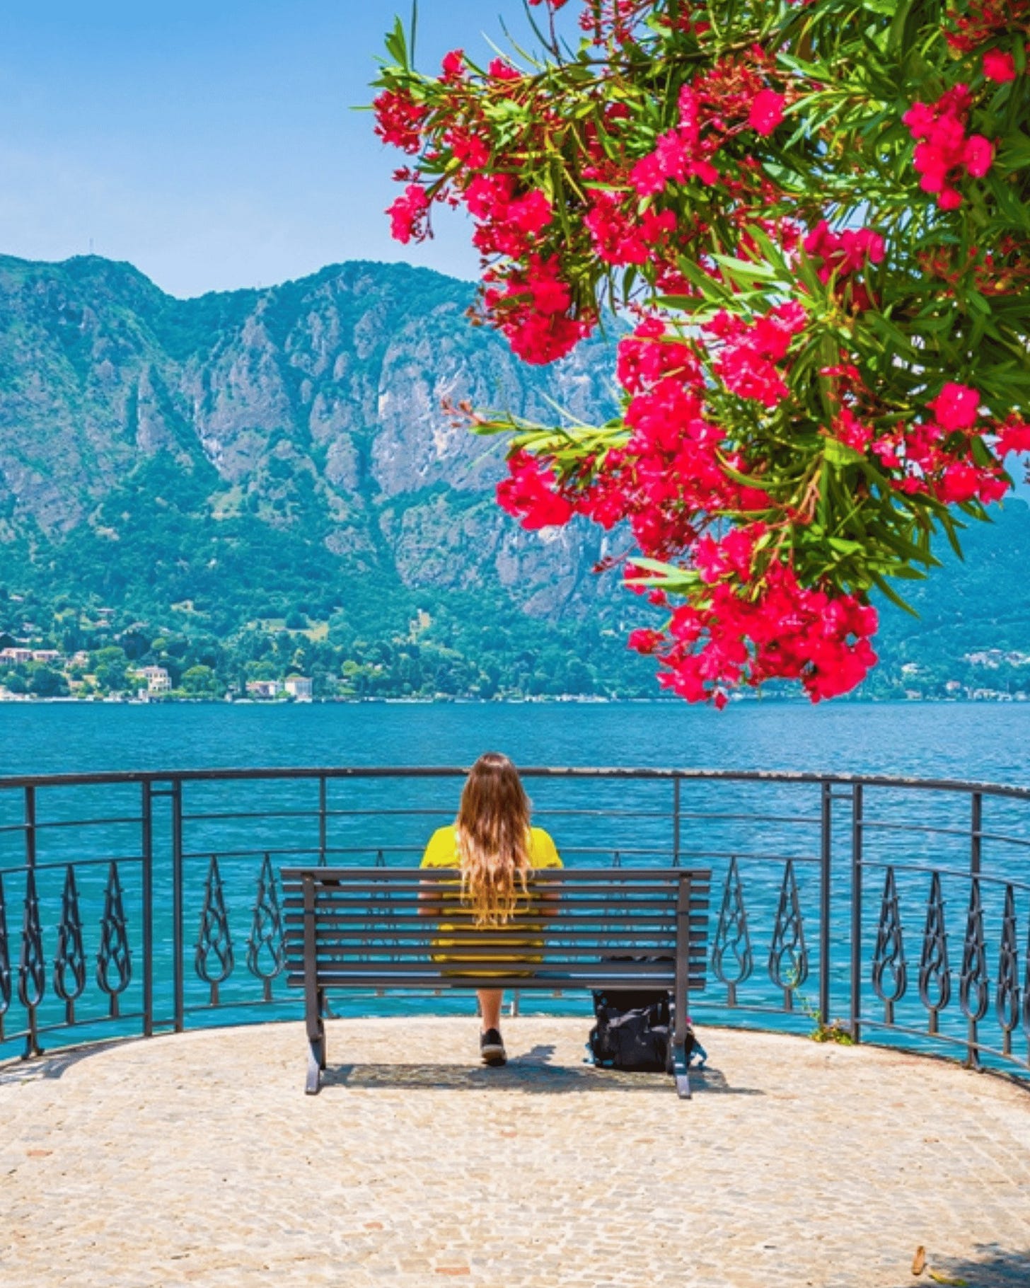
M473 765L461 793L457 820L433 833L422 855L422 867L461 868L460 898L478 930L496 934L515 929L516 917L528 909L527 873L534 868L560 868L561 859L547 832L529 826L529 799L507 756L488 751ZM538 908L538 913L542 911ZM464 929L467 926L469 920L465 920ZM523 931L539 929L530 927L523 918L518 926ZM442 925L439 929L454 931L457 927ZM512 940L511 947L518 951L536 943ZM434 947L454 944L438 940ZM488 960L506 960L491 954L489 949L487 954ZM524 952L519 956L525 960ZM479 1037L483 1063L505 1064L507 1056L501 1038L503 990L480 988L478 997L483 1018Z

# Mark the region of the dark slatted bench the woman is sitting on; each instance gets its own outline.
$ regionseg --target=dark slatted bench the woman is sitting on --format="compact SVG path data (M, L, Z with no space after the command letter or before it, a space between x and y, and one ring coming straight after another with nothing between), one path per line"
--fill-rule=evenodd
M330 989L666 988L672 1069L690 1096L688 993L704 988L711 872L563 868L533 872L511 926L476 930L445 868L283 868L286 972L304 989L309 1095L326 1068ZM443 929L440 929L443 927Z

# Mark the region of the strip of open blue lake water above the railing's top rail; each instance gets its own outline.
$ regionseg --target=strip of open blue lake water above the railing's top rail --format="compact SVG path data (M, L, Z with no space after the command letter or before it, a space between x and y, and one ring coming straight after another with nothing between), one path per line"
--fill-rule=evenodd
M0 705L0 774L252 765L663 765L1030 784L1030 703Z

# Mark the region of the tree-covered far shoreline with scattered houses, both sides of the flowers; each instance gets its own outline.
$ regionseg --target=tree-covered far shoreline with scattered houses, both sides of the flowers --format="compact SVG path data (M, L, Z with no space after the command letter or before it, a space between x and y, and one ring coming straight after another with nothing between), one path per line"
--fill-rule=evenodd
M0 702L679 701L651 659L626 647L623 622L563 623L542 640L539 623L515 609L491 607L480 620L412 605L399 626L359 626L321 607L277 603L282 616L232 629L189 600L171 605L173 621L0 587ZM881 666L848 697L1030 699L1025 632L995 634L985 648L982 630L969 631L954 652L932 647L935 636L885 639ZM776 684L731 697L806 701Z

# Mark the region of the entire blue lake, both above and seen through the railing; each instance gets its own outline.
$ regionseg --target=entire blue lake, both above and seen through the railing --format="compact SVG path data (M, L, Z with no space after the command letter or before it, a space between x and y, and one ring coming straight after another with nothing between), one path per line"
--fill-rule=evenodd
M785 702L740 702L716 712L670 702L637 703L340 703L340 705L72 705L0 706L0 775L108 770L193 770L277 766L416 766L470 764L485 750L509 753L523 766L658 766L675 769L887 774L932 779L971 779L1030 786L1030 703L837 703L811 707ZM1 786L1 782L0 782ZM234 944L234 970L221 984L219 1001L252 1003L260 988L246 967L247 936L254 926L255 890L264 855L277 864L288 857L313 860L319 844L330 862L417 862L433 827L453 818L460 778L421 782L330 782L327 820L319 842L317 782L187 783L184 787L184 960L189 1023L218 1023L224 1011L206 1010L210 989L197 976L210 894L211 859L218 859ZM673 832L668 782L529 783L539 822L552 833L566 862L667 863L673 849L684 862L713 869L716 914L735 863L749 917L753 971L740 1001L761 1010L778 1006L783 990L770 969L774 925L784 884L794 882L803 914L802 935L809 978L800 1005L811 1003L819 957L819 818L818 784L684 783L681 828ZM848 963L837 947L848 926L851 799L842 788L833 802L834 853L830 956L834 990L846 996ZM106 1014L107 998L93 987L102 938L109 860L120 863L120 881L131 934L142 913L139 869L139 787L41 791L37 800L39 895L48 960L48 998L42 1018L62 1023L63 1005L53 997L52 971L58 952L62 894L68 864L75 866L79 904L89 960L90 987L76 1003L76 1020ZM603 811L599 814L597 811ZM905 927L909 987L900 1018L919 1028L926 1009L915 997L921 940L928 895L928 867L941 867L950 944L949 970L962 966L969 902L969 797L868 788L864 857L874 864L866 876L863 921L864 956L873 953L881 911L883 872L897 867ZM71 820L103 820L82 828ZM120 822L121 820L121 822ZM23 799L0 791L0 873L5 869L12 966L17 970L22 927ZM1022 974L1030 922L1030 806L986 797L982 864L986 967L999 970L1004 884L1016 881L1018 970ZM170 961L173 926L169 885L169 806L154 805L154 1003L160 1018L173 1005ZM679 837L679 846L676 844ZM994 840L993 837L998 837ZM1003 838L1003 840L1002 840ZM1013 838L1013 840L1009 840ZM791 872L787 872L789 860ZM876 867L881 864L881 867ZM22 882L22 885L19 885ZM788 890L789 894L789 890ZM209 926L210 929L210 926ZM121 997L124 1015L140 1005L139 945L134 942L130 987ZM210 965L210 963L209 963ZM733 966L733 962L730 962ZM868 974L868 970L866 970ZM718 981L713 981L718 985ZM993 987L993 984L991 984ZM868 993L868 987L866 987ZM296 1014L282 981L274 985L276 1014ZM726 990L713 987L715 1018L726 1019ZM833 999L833 998L832 998ZM350 1011L400 1012L403 997L351 997ZM425 1005L425 1003L420 1003ZM433 998L436 1010L467 1010L467 999ZM583 998L541 999L534 1007L586 1011ZM870 1015L881 1014L866 998ZM6 1033L18 1032L12 1005ZM264 1011L241 1011L234 1018ZM991 993L990 1015L995 1015ZM803 1028L805 1016L787 1027ZM951 999L941 1032L957 1039L964 1018ZM118 1021L131 1030L138 1023ZM1024 1029L1030 1028L1025 1023ZM95 1037L103 1024L85 1023L81 1037ZM77 1030L79 1032L79 1030ZM1015 1033L1025 1052L1025 1032ZM66 1038L62 1036L62 1041ZM10 1039L0 1054L14 1054Z

